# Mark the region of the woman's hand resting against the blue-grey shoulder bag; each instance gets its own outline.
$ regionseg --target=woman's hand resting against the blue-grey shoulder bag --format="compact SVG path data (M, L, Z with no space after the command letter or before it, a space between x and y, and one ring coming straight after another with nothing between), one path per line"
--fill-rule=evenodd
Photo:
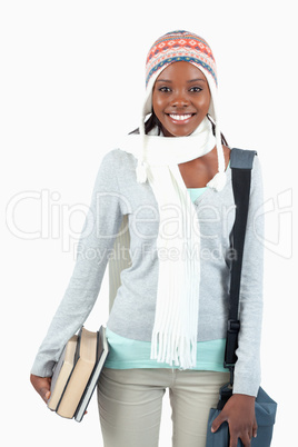
M220 415L213 420L211 431L217 431L225 421L229 424L229 447L237 447L238 438L241 439L245 447L249 447L251 438L257 436L258 428L255 415L255 397L232 395Z

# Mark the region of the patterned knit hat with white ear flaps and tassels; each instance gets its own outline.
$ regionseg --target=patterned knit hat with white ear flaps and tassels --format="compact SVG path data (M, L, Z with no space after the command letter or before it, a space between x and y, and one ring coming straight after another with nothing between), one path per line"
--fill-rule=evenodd
M216 123L218 173L208 186L221 190L226 182L226 175L217 105L217 69L212 51L201 37L188 31L171 31L157 39L149 50L146 61L146 97L141 110L140 133L145 135L145 119L152 112L152 89L158 76L169 64L179 61L192 63L201 70L209 85L211 99L208 113ZM137 171L139 182L146 181L142 165L143 159L139 159Z

